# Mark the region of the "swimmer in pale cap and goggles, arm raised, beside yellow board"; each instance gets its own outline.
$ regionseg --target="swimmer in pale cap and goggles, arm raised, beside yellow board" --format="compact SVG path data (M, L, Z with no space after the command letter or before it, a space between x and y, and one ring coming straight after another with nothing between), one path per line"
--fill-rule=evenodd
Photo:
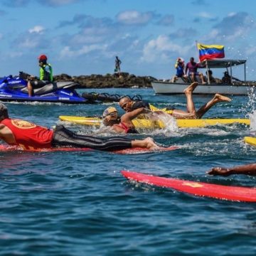
M146 110L144 107L140 107L132 112L126 112L119 118L115 107L107 107L102 114L103 124L107 127L112 127L112 129L117 133L137 134L139 132L135 129L132 119L136 118L139 114L146 112L151 111Z

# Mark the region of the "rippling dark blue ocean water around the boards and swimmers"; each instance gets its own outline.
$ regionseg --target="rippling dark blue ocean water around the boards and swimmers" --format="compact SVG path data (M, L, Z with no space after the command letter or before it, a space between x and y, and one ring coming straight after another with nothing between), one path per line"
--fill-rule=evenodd
M85 90L83 90L85 91ZM90 90L87 90L90 92ZM106 90L95 90L106 92ZM113 89L142 95L158 107L186 108L183 95ZM87 152L0 152L0 255L255 255L256 205L201 198L125 180L121 170L255 187L252 176L209 176L213 166L255 162L255 95L232 97L205 117L247 117L251 126L142 130L175 151L120 155ZM195 96L196 107L210 96ZM65 124L81 134L98 129L62 123L59 115L100 115L104 105L8 103L11 117L43 126ZM117 107L117 104L114 104ZM122 111L120 110L120 113ZM111 134L104 134L110 136Z

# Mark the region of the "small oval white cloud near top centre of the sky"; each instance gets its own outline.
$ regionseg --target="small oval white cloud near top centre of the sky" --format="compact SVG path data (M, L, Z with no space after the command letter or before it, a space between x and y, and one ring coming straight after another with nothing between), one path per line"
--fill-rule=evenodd
M139 11L123 11L117 15L117 20L127 25L144 24L151 20L151 12L141 13Z

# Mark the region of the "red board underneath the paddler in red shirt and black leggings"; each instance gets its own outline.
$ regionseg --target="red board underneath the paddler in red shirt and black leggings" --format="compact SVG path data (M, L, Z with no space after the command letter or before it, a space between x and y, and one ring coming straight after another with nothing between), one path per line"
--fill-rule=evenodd
M157 150L157 151L171 151L174 149L178 149L178 146L169 146L168 148ZM74 147L56 147L50 149L30 149L30 150L23 150L19 146L7 146L7 145L0 145L0 151L33 151L33 152L55 152L55 151L92 151L93 149L89 148L74 148ZM122 149L122 150L115 150L109 151L110 153L116 154L143 154L154 152L151 149L142 149L142 148L133 148L133 149Z

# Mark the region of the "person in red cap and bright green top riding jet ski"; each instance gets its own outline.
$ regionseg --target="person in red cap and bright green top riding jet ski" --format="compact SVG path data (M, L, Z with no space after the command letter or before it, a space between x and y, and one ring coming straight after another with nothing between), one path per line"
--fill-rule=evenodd
M40 88L49 83L53 82L53 68L49 63L47 63L47 56L42 54L38 57L38 63L40 67L40 76L39 80L36 80L35 77L31 76L28 78L28 96L33 96L33 89Z

